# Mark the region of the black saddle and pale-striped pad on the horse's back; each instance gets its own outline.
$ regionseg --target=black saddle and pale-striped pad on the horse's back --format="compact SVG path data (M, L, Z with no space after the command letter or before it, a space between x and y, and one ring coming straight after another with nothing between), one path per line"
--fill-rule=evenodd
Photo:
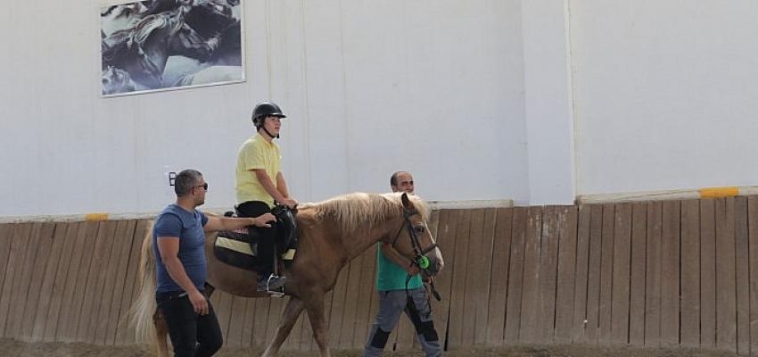
M272 228L276 229L276 253L280 257L279 262L284 263L285 268L289 268L298 246L297 210L276 205L271 210L271 214L276 217L276 222L272 224ZM235 217L238 213L230 211L224 215ZM258 237L255 228L242 228L234 231L222 230L218 232L213 253L221 262L240 269L254 271L257 260L255 249L251 249L251 243L253 247L256 247Z

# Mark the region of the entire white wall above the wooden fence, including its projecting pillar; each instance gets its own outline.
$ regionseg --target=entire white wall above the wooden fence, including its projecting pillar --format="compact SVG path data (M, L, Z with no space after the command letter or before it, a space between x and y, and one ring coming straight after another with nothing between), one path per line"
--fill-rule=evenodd
M516 204L758 177L752 0L245 0L244 83L108 99L99 7L0 15L0 217L155 212L183 168L229 207L266 99L303 202L394 170L428 200Z

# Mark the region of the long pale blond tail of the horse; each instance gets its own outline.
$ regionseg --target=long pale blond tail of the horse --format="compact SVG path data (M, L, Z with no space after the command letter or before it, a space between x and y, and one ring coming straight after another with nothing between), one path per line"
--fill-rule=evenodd
M155 303L155 259L152 257L152 223L142 241L137 278L142 281L142 284L136 301L132 305L132 324L136 329L136 341L144 343L151 341L151 336L154 335L151 334L154 332L152 315L157 308Z

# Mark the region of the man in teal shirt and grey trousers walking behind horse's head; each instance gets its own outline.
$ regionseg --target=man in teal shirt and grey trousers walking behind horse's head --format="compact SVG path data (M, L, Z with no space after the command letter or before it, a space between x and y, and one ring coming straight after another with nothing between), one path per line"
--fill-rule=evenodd
M395 172L390 178L390 187L392 192L413 195L413 176L406 171ZM376 265L379 312L371 325L363 356L378 357L382 354L387 338L397 326L402 312L413 322L418 342L426 356L441 356L442 349L434 329L432 309L418 267L388 244L380 244L376 253Z

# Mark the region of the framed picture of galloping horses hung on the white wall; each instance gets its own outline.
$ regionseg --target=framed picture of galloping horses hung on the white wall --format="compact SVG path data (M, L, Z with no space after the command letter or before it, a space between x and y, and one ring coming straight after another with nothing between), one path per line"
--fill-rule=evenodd
M244 81L241 0L145 0L100 10L102 95Z

